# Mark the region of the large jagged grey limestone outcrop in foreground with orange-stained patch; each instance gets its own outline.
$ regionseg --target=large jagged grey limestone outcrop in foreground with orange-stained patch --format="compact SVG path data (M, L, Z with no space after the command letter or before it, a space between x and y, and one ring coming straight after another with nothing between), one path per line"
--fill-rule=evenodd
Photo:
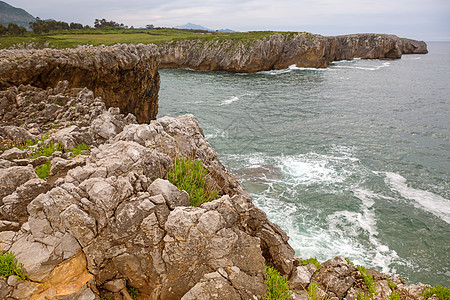
M54 94L21 89L40 94L39 103ZM0 164L0 249L14 252L29 275L19 284L0 280L5 298L129 299L134 287L143 299L262 299L265 263L291 273L288 237L228 174L192 115L139 125L91 97L67 96L93 112L89 122L69 125L66 111L42 142L66 149L91 141L89 156L55 152L47 179L34 173L47 158ZM18 116L23 109L16 106ZM190 207L186 192L158 179L183 156L202 161L219 199Z

